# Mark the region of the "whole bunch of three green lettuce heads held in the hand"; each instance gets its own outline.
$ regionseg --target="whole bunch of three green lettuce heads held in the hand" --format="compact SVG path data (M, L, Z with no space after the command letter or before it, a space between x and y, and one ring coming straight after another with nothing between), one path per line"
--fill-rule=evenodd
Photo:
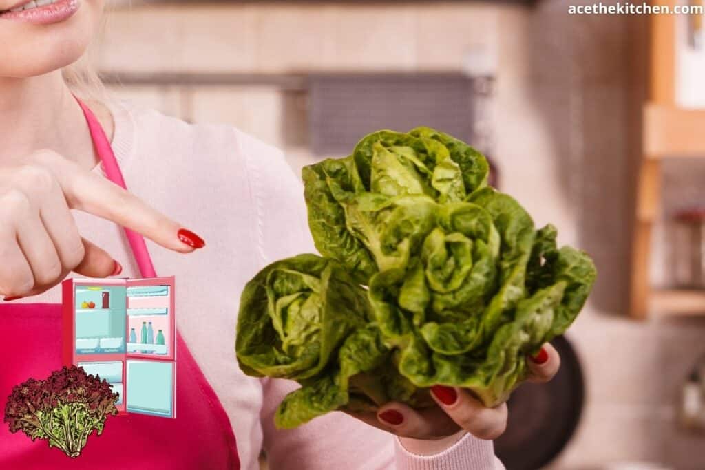
M529 377L525 358L570 326L595 268L487 173L484 156L429 128L376 132L304 168L324 257L264 268L238 319L243 371L302 385L278 426L389 401L422 409L433 385L496 407Z

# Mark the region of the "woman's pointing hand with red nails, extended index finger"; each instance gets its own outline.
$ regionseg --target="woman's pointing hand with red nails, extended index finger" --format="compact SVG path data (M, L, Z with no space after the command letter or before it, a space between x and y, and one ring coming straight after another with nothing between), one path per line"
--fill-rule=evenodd
M82 238L71 209L135 230L180 253L204 246L197 235L98 173L51 150L0 167L0 295L37 295L71 271L104 278L122 271Z

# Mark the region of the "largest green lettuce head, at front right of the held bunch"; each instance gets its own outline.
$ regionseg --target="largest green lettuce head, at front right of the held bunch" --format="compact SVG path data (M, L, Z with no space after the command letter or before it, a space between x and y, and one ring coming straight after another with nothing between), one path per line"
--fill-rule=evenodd
M557 249L552 225L534 230L519 204L486 188L443 206L419 256L372 276L369 297L403 376L494 407L527 378L527 355L572 323L594 279L587 255Z

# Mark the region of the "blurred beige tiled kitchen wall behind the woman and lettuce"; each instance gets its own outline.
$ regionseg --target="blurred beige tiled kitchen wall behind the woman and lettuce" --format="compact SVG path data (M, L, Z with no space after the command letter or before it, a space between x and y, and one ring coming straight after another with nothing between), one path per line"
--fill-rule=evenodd
M600 273L570 332L586 370L587 408L552 468L652 461L703 469L705 438L678 431L673 402L705 352L704 321L625 317L645 20L566 10L562 0L531 9L494 2L135 2L111 13L100 65L138 72L457 70L473 51L491 54L503 190L537 223L556 223L562 242L587 249ZM297 170L311 161L305 99L295 94L269 86L112 91L189 120L238 125L284 147Z

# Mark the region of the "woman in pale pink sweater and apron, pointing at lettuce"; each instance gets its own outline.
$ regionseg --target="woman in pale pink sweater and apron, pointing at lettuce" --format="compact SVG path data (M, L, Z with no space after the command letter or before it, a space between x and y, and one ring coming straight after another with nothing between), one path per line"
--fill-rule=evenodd
M238 293L265 264L315 252L302 187L278 150L236 129L188 125L112 102L86 101L82 109L64 77L90 43L103 3L0 0L0 325L21 304L59 303L57 284L71 271L145 276L118 225L135 230L154 242L149 252L157 271L179 280L178 328L185 345L180 359L192 361L193 369L177 373L178 390L194 395L178 406L188 410L213 399L204 413L216 416L209 421L216 425L188 416L112 419L71 468L91 468L92 448L118 446L140 434L149 434L143 437L152 443L149 468L218 468L223 464L214 462L232 459L211 456L229 452L232 443L227 437L200 439L214 426L223 427L223 435L234 431L245 469L257 468L262 449L274 469L501 468L491 439L505 428L506 406L486 409L461 389L433 388L439 407L424 413L389 403L376 415L332 413L294 431L276 431L276 405L295 385L250 378L238 369L235 312ZM110 141L103 151L100 128ZM109 161L105 152L111 151L130 192L101 171L99 163ZM549 380L560 361L550 345L527 360L535 381ZM204 380L190 385L197 379ZM219 413L227 419L219 421ZM181 427L161 428L166 421ZM154 431L147 433L149 426ZM169 439L157 439L163 432ZM10 439L0 429L0 467L34 468L27 456L40 450L20 454L15 450L24 441ZM123 468L117 458L107 461L108 468ZM133 467L147 462L132 458Z

